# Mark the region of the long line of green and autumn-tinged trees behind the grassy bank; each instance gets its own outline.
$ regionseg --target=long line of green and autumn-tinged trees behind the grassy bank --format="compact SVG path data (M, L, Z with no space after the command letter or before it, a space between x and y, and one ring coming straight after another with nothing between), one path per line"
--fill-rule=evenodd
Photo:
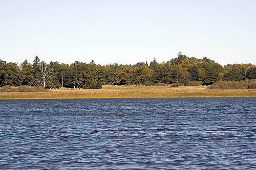
M46 88L101 88L111 85L211 85L214 82L256 79L253 64L228 64L222 66L207 57L197 59L182 53L167 62L139 62L134 65L95 64L75 61L72 64L27 60L17 63L0 59L0 87L44 86Z

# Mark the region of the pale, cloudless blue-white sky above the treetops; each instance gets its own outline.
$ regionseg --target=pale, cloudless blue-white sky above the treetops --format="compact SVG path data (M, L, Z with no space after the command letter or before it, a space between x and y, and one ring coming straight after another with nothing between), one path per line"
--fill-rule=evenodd
M256 1L0 0L0 59L256 64Z

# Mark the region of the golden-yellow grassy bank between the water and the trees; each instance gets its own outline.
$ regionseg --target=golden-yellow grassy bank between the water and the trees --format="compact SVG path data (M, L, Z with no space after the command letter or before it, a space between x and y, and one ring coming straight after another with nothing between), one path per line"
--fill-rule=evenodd
M207 86L110 86L100 90L50 89L45 92L2 92L0 99L72 99L72 98L181 98L256 96L256 90L210 90Z

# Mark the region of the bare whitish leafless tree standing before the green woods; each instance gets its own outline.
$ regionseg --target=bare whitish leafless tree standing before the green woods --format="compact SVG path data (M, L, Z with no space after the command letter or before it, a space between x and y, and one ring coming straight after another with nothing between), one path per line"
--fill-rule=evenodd
M45 88L46 82L56 74L55 68L51 67L49 64L47 64L44 61L40 62L37 66L38 66L38 71L37 71L36 80L38 82L43 83Z

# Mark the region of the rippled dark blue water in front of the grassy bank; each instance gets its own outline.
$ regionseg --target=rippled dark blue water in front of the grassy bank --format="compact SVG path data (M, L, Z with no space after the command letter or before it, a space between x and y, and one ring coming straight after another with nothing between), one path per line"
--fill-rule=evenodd
M0 100L0 169L255 169L256 98Z

